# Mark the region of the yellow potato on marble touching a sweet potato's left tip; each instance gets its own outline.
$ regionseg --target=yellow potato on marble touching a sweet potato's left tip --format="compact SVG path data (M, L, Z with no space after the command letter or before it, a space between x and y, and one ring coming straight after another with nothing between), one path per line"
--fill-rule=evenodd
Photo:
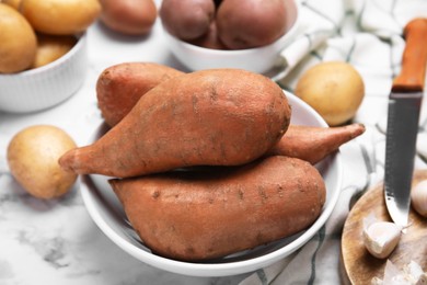
M58 159L76 144L62 129L35 125L19 132L8 146L12 175L31 195L56 198L68 193L77 175L64 171Z

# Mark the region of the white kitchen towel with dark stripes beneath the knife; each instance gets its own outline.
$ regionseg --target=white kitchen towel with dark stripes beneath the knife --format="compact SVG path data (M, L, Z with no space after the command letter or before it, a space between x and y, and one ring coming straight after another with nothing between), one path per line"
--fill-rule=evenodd
M343 283L341 235L350 198L383 178L388 96L401 68L403 27L413 18L427 16L427 0L302 0L300 4L301 32L281 53L288 67L278 83L292 92L299 77L319 62L351 64L366 88L354 121L365 124L367 132L341 148L342 193L324 227L297 252L254 272L241 285ZM417 142L417 169L427 168L426 101Z

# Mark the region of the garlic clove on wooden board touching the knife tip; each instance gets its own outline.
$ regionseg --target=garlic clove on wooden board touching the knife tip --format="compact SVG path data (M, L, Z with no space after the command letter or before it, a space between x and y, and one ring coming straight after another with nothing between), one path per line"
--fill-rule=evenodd
M402 227L390 221L376 221L363 230L363 243L367 250L378 259L389 256L397 246Z

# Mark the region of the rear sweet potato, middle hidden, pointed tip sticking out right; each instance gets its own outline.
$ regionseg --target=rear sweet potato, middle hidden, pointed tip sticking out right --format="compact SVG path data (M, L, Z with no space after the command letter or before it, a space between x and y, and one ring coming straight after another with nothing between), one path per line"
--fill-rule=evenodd
M96 93L105 123L113 127L138 100L155 86L184 75L174 68L152 62L125 62L105 69L99 77ZM365 133L361 124L337 127L290 125L267 156L287 156L320 162L342 145Z

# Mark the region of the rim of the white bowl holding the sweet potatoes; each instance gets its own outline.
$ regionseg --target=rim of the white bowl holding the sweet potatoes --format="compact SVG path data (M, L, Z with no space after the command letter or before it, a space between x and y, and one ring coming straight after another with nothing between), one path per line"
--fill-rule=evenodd
M321 117L319 113L316 113L309 104L303 102L301 99L297 98L290 92L286 92L286 94L290 94L293 100L296 100L299 104L302 105L303 109L308 110L308 112L313 115L315 121L320 123L321 126L327 127L328 125L326 122ZM103 124L101 124L102 126ZM99 128L97 128L99 129ZM334 160L334 161L333 161ZM101 215L101 210L96 210L95 207L90 205L91 192L93 192L93 189L96 187L94 185L94 182L90 175L83 175L82 183L80 186L82 187L80 193L82 195L83 204L85 205L85 208L94 223L97 225L97 227L106 235L116 246L122 248L125 252L136 258L138 261L147 263L151 266L155 266L161 270L165 270L169 272L188 275L188 276L227 276L227 275L235 275L235 274L243 274L251 271L258 270L261 267L268 266L280 259L284 259L291 254L292 252L300 249L302 246L304 246L307 242L310 241L310 239L325 225L327 219L331 217L332 212L334 210L336 203L338 201L339 194L341 194L341 186L343 181L343 161L342 161L342 153L339 149L331 155L328 158L326 158L323 162L326 164L331 164L332 162L335 163L336 169L336 189L332 191L332 195L328 198L328 204L323 206L321 215L318 217L318 219L305 230L300 231L300 236L298 236L297 239L290 241L289 243L285 246L280 246L279 248L265 253L259 256L241 260L241 261L229 261L229 262L221 262L221 263L197 263L197 262L185 262L185 261L178 261L173 259L168 259L161 255L157 255L152 252L148 252L142 250L139 247L136 247L131 242L128 242L120 237L119 233L117 233L112 226L108 225L107 220L103 218ZM298 235L298 233L296 233ZM155 262L154 262L155 261ZM185 272L185 273L184 273Z

